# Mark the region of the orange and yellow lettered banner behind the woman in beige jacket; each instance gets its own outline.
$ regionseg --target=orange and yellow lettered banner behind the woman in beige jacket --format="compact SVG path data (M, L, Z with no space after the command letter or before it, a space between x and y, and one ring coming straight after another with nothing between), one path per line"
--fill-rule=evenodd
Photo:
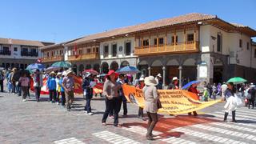
M128 85L123 85L122 89L128 102L144 107L145 101L142 90ZM162 103L162 109L159 109L158 112L168 114L186 114L221 101L200 102L197 100L196 94L186 90L158 90L158 94Z

